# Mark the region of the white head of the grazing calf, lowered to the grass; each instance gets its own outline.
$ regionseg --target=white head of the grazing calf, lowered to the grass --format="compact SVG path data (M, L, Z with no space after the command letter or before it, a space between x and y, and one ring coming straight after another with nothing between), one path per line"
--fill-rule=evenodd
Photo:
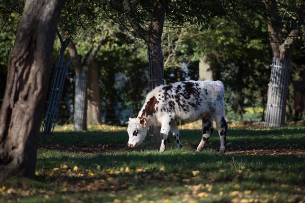
M146 136L146 118L129 118L128 122L128 147L136 147L138 144L142 143Z

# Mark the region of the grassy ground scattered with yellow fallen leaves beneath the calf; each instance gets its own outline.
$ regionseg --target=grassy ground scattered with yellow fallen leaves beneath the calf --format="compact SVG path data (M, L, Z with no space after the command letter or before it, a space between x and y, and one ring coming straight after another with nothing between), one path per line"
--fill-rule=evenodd
M34 180L12 178L0 202L305 202L305 127L217 132L195 152L200 130L181 130L183 149L127 148L125 131L57 132L40 139Z

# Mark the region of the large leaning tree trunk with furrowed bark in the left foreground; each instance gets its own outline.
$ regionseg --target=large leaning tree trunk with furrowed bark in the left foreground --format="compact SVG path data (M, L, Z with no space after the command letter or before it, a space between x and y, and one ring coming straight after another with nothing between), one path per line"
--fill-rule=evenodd
M35 176L39 128L49 84L53 43L65 1L27 1L9 56L0 113L0 181Z

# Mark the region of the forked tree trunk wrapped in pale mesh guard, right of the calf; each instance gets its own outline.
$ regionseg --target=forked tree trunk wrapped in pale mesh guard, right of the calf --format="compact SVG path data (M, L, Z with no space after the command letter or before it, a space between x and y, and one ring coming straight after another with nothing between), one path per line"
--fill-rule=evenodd
M267 25L273 53L265 124L269 127L281 127L285 125L293 46L297 40L296 36L301 33L301 28L292 24L291 31L285 38L281 32L284 25L278 13L277 2L265 0L264 3L268 11ZM303 20L304 16L301 15L300 18Z

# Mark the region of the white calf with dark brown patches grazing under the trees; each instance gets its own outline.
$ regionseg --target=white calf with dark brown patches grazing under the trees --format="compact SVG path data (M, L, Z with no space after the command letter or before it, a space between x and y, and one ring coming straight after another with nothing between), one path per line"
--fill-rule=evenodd
M225 120L224 85L221 81L183 81L161 85L147 94L138 117L130 118L128 125L129 147L142 143L149 126L161 126L162 143L165 150L169 131L182 147L176 120L194 122L202 120L202 139L197 147L201 150L214 130L216 122L220 136L220 151L225 151L228 125Z

